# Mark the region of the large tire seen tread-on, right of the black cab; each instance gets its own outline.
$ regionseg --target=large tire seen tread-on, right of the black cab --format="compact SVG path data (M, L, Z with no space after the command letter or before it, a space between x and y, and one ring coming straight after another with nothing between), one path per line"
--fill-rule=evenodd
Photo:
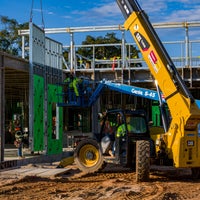
M146 140L136 142L136 181L149 180L150 171L150 143Z

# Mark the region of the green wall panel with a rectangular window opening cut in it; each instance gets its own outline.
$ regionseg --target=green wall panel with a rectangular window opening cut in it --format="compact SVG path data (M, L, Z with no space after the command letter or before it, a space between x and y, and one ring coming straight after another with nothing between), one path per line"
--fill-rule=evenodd
M62 93L62 87L57 85L48 84L48 147L47 154L57 154L62 152L63 148L63 109L62 107L56 108L58 102L58 95ZM53 118L56 117L56 122ZM54 125L56 124L56 130ZM56 133L55 133L56 132Z

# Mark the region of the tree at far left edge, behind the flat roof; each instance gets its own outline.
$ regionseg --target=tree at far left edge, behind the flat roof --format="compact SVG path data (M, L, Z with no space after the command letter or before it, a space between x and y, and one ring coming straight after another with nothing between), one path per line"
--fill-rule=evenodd
M0 50L19 56L21 53L21 38L19 29L28 29L28 23L19 24L15 19L0 16L2 29L0 30Z

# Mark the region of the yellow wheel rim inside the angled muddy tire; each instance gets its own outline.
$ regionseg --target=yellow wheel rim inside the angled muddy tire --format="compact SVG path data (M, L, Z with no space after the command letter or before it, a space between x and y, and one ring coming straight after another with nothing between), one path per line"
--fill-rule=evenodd
M79 159L83 165L92 167L99 160L99 152L93 145L84 145L79 151Z

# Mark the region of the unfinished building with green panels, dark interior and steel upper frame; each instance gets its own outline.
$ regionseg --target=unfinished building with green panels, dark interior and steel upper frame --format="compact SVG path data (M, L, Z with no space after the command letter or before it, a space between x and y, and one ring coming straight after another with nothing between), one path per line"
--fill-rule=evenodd
M200 41L189 39L189 28L199 27L200 23L155 24L155 28L182 28L185 38L182 41L163 42L175 45L180 54L170 55L182 79L195 99L200 99ZM76 45L73 34L91 31L119 31L122 38L118 44ZM46 34L65 32L70 34L69 46L46 37ZM97 113L111 108L142 108L149 120L161 125L157 102L105 90L92 107L67 105L63 100L63 82L73 72L76 77L89 81L91 90L103 79L115 83L124 83L141 88L155 90L154 80L146 63L141 57L131 56L131 47L135 43L126 43L122 26L87 27L69 29L41 30L34 24L30 30L20 31L22 41L29 35L29 60L25 60L23 47L22 58L16 58L1 52L0 58L0 142L1 161L6 143L13 143L15 126L28 133L30 151L45 151L46 154L58 154L63 147L74 145L76 137L85 137L97 132ZM121 49L118 57L96 59L95 49L104 46ZM92 59L76 54L77 48L90 48ZM64 60L63 49L69 52L69 59ZM63 104L62 104L63 103ZM18 123L18 124L17 124Z

